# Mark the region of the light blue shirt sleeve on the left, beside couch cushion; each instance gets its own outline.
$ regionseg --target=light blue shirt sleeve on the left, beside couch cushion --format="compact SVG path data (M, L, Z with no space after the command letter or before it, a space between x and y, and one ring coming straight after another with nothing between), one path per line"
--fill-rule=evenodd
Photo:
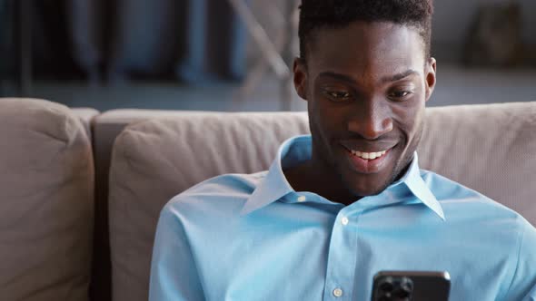
M149 300L204 300L184 227L169 206L162 210L156 228Z

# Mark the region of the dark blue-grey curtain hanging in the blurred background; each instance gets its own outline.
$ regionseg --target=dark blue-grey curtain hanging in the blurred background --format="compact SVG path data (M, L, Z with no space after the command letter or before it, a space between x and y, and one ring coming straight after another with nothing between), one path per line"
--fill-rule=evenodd
M226 1L35 0L28 13L38 74L210 83L246 72L245 28Z

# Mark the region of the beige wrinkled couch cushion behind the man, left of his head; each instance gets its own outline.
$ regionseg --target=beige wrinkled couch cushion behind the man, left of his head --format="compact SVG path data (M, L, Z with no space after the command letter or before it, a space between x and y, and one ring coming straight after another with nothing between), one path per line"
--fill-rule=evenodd
M192 113L121 133L110 171L113 300L147 300L160 209L200 180L264 170L286 138L308 131L304 113Z

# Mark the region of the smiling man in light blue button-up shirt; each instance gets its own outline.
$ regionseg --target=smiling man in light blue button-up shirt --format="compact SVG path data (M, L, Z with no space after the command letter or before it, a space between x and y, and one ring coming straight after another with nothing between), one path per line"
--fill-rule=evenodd
M536 300L536 230L419 170L431 16L427 0L303 0L293 71L312 136L166 205L151 300L367 301L382 270L447 271L455 301Z

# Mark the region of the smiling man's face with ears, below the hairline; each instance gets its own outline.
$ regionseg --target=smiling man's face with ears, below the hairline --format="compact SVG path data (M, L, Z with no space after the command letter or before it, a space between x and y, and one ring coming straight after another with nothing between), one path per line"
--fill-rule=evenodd
M355 22L313 33L294 84L308 102L314 166L362 197L387 188L412 160L435 61L411 26Z

